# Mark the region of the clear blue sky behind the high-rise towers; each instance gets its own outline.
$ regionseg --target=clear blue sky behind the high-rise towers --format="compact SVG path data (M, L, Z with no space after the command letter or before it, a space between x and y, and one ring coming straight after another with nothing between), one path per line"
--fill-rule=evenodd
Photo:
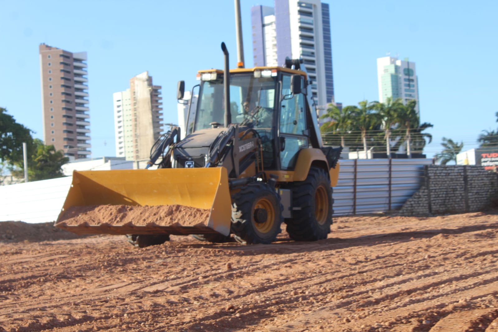
M252 66L250 7L241 0L246 66ZM329 1L335 99L378 100L376 58L416 63L421 121L477 146L498 111L498 1ZM162 85L164 122L177 122L176 84L197 70L223 68L220 44L236 67L234 1L0 0L0 107L43 138L38 45L88 52L92 157L115 155L112 94L148 70Z

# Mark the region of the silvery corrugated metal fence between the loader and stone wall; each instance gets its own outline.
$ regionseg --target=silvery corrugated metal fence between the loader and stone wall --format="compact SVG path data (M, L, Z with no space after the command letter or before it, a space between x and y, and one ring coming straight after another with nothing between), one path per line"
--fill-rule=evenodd
M422 185L424 165L432 159L347 159L339 164L334 215L356 215L400 209Z

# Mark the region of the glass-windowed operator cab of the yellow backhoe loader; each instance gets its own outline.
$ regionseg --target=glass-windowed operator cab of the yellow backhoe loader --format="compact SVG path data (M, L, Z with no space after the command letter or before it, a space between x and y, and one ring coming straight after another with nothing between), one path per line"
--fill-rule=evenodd
M198 72L200 83L192 91L196 94L195 88L198 89L198 101L196 109L189 110L187 136L212 128L223 130L223 78L222 70ZM307 109L313 102L306 91L306 78L304 71L285 67L230 70L231 123L257 131L265 169L293 170L299 150L318 145L310 142L313 121L307 116Z

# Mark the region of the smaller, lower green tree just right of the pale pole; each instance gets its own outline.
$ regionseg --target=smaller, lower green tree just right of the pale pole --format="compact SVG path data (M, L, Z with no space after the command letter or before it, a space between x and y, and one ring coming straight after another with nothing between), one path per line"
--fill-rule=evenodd
M38 181L64 176L61 167L69 161L68 157L64 156L62 150L55 150L53 145L45 145L43 142L35 138L33 141L33 151L28 155L28 180ZM16 177L23 177L23 163L17 162L17 170L12 170L12 174Z

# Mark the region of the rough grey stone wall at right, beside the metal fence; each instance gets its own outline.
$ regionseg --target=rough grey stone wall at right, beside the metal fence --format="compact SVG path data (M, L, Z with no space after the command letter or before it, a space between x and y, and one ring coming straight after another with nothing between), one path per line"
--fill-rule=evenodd
M498 174L482 166L425 166L422 187L399 210L402 216L482 211L498 193Z

